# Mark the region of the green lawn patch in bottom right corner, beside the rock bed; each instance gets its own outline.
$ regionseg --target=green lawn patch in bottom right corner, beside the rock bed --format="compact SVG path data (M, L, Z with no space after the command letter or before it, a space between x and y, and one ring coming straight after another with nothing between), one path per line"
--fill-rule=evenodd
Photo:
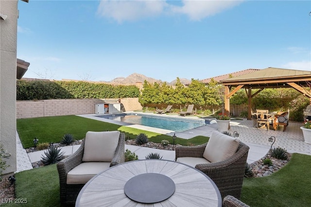
M311 156L294 153L278 172L244 178L241 200L251 207L310 207Z

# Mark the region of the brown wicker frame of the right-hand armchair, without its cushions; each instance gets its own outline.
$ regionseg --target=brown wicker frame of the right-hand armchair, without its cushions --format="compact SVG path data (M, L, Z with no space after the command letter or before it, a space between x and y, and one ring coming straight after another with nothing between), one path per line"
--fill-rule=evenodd
M175 148L175 160L178 161L178 157L199 157L203 160L206 146L207 143L178 146ZM220 162L196 164L195 168L214 181L223 199L227 195L240 199L248 150L249 147L240 141L237 151L229 158Z

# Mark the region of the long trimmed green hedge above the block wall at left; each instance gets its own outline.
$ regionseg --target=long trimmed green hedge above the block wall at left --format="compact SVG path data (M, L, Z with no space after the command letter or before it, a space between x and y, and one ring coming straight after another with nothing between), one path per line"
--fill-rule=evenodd
M80 99L80 98L137 98L136 86L113 86L74 81L17 80L17 100Z

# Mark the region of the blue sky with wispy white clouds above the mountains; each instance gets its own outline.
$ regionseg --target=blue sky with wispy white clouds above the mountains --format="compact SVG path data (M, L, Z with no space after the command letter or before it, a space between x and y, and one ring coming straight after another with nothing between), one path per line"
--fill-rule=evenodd
M311 1L18 1L25 78L171 82L244 69L311 70Z

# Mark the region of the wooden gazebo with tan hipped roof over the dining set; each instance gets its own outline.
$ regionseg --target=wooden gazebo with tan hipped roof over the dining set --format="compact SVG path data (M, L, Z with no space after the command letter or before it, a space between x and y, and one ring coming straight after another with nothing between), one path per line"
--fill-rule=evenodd
M230 97L239 89L244 88L248 97L248 120L251 120L251 101L265 88L288 88L293 87L306 97L310 98L311 104L311 71L266 68L248 74L228 78L221 81L225 86L225 114L230 114ZM309 89L306 89L309 87ZM252 94L252 89L259 89Z

